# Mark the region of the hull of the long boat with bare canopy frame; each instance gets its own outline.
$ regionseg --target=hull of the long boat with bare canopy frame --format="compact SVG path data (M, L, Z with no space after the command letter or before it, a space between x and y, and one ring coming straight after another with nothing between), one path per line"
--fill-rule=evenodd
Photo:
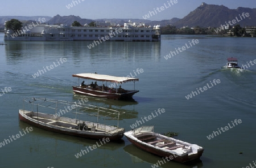
M20 121L30 124L31 126L42 128L43 130L57 132L57 133L63 133L65 135L85 137L85 138L89 138L89 139L97 139L97 140L100 140L103 138L105 138L105 139L109 138L109 140L120 140L123 137L124 129L123 129L123 131L119 131L118 133L115 133L113 135L110 135L109 133L98 133L98 132L93 133L93 131L80 131L80 130L59 127L59 126L55 126L53 124L47 124L47 123L41 122L34 118L28 117L26 114L23 114L22 111L24 111L24 110L19 110L19 120ZM35 113L35 112L33 112L33 113ZM42 114L42 113L39 113L39 114Z

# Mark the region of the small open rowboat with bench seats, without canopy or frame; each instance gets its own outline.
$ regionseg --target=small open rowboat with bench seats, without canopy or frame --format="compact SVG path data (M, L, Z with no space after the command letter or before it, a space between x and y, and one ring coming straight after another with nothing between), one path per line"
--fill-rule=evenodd
M204 151L199 145L155 133L154 126L135 128L125 132L125 136L138 148L181 163L199 159Z

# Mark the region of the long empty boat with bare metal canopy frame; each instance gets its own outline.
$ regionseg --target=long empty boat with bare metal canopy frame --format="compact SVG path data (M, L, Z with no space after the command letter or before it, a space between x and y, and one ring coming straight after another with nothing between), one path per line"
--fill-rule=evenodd
M32 107L32 109L25 110L25 106ZM33 110L33 107L36 108L36 112ZM47 111L49 111L48 109L53 109L55 114L39 113L39 108L40 110L42 109L42 111L46 110L44 107L47 107ZM71 110L69 111L67 108ZM58 113L57 110L59 110ZM90 112L90 115L97 116L97 122L80 120L80 115L84 113L78 113L77 110L87 111L87 113ZM61 115L64 115L65 113L74 113L76 118L72 119L62 117ZM98 117L109 118L107 116L111 115L112 119L113 117L116 117L119 120L120 114L122 113L117 110L86 105L82 104L80 101L77 103L46 98L25 98L23 100L23 109L19 110L19 120L31 124L32 126L43 128L44 130L64 133L66 135L86 137L97 140L104 138L109 138L110 140L119 140L123 137L125 129L119 128L118 123L117 126L100 124L98 123Z

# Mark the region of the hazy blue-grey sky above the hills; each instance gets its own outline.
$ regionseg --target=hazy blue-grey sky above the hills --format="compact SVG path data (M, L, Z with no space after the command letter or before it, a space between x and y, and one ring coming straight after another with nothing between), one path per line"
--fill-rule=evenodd
M3 1L3 0L1 0ZM76 2L78 3L76 3ZM149 20L183 18L195 10L202 2L214 5L224 5L228 8L256 8L255 0L11 0L0 5L0 16L61 16L75 15L84 19L143 19L149 11L156 10ZM174 0L172 0L174 1ZM75 3L75 5L74 5ZM73 7L68 4L72 4ZM164 4L166 6L164 6ZM171 6L170 6L170 5ZM162 7L162 10L160 7ZM156 9L159 7L159 11Z

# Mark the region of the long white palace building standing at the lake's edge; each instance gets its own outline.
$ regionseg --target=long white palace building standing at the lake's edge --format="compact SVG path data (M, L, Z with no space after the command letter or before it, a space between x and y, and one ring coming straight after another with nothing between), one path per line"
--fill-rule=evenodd
M29 29L28 29L29 28ZM160 41L160 25L154 27L144 24L137 25L129 20L123 26L81 27L69 25L28 25L23 30L12 31L7 29L5 21L5 40L21 41Z

